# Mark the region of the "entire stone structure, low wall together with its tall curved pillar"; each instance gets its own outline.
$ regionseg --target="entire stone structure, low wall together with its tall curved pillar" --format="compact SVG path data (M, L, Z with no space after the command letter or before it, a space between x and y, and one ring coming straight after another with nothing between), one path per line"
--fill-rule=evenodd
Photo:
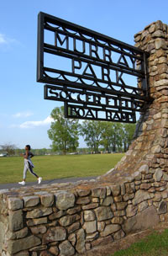
M135 35L154 100L125 157L97 180L1 190L0 255L85 255L168 221L167 30L157 21Z

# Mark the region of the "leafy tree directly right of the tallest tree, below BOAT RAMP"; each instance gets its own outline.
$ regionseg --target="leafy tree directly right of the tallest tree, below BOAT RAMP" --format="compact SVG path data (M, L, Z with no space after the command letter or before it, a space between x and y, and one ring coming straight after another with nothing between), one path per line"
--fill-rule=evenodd
M87 147L91 147L92 151L97 153L102 137L102 122L85 120L81 125L80 134L87 142Z

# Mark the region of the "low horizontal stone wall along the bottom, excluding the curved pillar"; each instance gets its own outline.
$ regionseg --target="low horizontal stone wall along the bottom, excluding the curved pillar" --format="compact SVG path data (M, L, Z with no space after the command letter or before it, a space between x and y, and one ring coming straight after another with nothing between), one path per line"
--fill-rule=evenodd
M168 176L166 176L168 180ZM2 255L81 255L168 219L165 175L1 190Z

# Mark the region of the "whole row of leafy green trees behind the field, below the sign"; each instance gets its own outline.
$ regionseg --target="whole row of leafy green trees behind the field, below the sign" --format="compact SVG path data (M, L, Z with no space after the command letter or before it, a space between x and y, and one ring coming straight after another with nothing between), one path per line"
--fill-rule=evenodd
M135 124L121 124L105 121L85 120L64 117L64 107L55 108L50 116L54 120L48 136L54 152L76 152L79 136L82 136L92 152L103 148L106 152L126 152L134 136Z

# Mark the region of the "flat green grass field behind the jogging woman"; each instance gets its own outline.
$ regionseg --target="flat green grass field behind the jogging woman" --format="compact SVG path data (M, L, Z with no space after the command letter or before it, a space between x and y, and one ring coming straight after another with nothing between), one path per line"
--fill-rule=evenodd
M32 159L34 172L43 179L98 176L108 172L123 157L121 153L103 155L37 156ZM23 157L0 157L0 183L22 180ZM34 181L28 172L27 181Z

